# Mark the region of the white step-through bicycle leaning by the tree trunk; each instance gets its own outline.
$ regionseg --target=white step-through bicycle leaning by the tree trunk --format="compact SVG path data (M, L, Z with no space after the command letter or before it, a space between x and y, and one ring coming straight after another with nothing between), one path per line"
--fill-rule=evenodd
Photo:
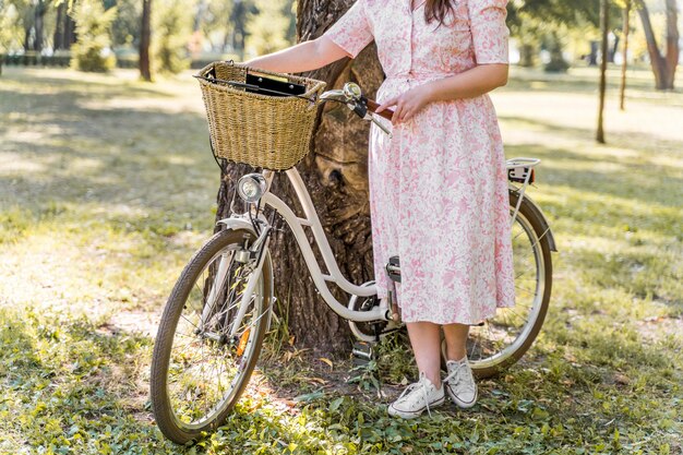
M325 92L321 100L342 103L390 133L374 118L379 105L356 84ZM380 115L391 119L392 113ZM468 357L480 378L515 363L534 343L548 311L551 251L556 249L546 217L525 195L539 163L535 158L507 161L517 302L470 331ZM320 296L349 322L358 339L375 342L402 326L395 287L388 298L379 300L374 282L356 285L343 276L299 172L296 167L285 172L305 217L298 217L271 192L275 171L241 177L237 192L249 208L218 221L221 230L194 253L168 298L154 346L151 395L156 422L171 441L182 444L216 429L249 385L274 303L268 250L273 223L264 215L266 206L273 208L273 216L277 213L285 219ZM304 226L312 230L327 274L313 255ZM386 273L392 284L400 280L398 258L390 260ZM348 292L349 301L336 300L327 283Z

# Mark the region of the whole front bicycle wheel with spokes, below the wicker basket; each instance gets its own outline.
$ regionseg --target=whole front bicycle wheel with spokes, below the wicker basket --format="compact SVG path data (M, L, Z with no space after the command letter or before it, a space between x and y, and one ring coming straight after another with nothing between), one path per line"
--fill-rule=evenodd
M151 371L156 423L183 444L225 421L261 352L273 301L271 256L247 249L245 229L214 235L190 260L168 298Z

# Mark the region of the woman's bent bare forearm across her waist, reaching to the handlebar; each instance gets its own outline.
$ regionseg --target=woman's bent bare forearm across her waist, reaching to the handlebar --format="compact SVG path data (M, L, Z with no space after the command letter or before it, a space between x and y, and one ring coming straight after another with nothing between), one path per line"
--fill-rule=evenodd
M507 83L507 64L480 64L429 84L429 101L474 98Z

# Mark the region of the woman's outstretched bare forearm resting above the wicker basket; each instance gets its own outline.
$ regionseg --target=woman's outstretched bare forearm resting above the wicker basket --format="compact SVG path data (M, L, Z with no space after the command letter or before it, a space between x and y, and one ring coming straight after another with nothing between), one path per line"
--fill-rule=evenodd
M278 73L301 73L316 70L344 57L344 50L328 38L322 37L253 58L244 64Z

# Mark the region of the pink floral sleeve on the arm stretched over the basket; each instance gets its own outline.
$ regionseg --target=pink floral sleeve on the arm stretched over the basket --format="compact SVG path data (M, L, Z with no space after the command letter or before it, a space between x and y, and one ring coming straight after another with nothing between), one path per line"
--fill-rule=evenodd
M327 28L323 36L332 39L355 59L374 39L363 0L357 0L337 22Z

